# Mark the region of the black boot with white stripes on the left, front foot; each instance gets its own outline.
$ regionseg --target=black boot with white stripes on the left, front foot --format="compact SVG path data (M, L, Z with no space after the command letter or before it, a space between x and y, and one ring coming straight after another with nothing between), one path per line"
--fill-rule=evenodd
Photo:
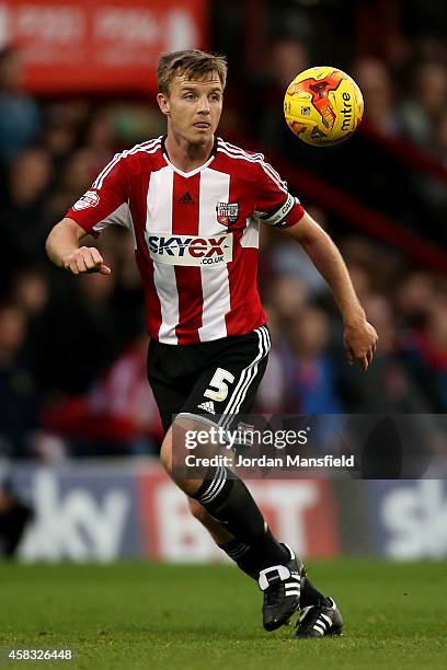
M287 544L283 546L288 551L290 559L285 565L274 565L261 570L257 579L260 589L264 592L262 616L266 631L275 631L287 624L299 608L303 564Z

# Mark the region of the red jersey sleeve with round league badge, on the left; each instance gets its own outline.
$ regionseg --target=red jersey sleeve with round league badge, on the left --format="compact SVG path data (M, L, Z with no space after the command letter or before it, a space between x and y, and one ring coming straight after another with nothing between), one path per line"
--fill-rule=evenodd
M126 155L117 153L92 186L67 211L88 233L98 238L111 224L129 227Z

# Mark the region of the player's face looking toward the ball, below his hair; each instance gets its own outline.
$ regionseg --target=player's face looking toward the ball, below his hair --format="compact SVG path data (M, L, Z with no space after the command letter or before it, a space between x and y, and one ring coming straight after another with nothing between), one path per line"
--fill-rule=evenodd
M206 143L219 124L224 90L217 72L203 79L177 76L169 96L159 94L160 108L168 116L168 128L191 143Z

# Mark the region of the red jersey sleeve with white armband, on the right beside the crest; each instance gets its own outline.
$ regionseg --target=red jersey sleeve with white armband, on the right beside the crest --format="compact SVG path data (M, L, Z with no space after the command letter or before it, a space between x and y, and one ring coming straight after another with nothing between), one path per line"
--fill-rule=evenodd
M305 213L300 201L288 192L286 182L270 163L262 160L256 166L259 174L255 215L259 220L275 228L295 226Z

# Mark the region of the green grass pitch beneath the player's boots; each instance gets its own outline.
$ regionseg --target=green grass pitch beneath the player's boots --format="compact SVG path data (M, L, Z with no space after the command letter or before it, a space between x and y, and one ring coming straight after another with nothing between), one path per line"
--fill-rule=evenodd
M11 665L67 670L447 667L445 563L318 562L310 576L343 637L265 633L261 592L231 566L0 564L0 647L71 648L71 662Z

